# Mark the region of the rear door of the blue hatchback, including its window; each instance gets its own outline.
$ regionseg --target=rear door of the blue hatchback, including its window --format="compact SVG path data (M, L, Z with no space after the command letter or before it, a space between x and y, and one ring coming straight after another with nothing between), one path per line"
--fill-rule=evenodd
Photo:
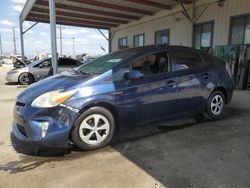
M198 111L205 105L209 77L200 54L192 49L175 49L173 73L177 78L183 112Z

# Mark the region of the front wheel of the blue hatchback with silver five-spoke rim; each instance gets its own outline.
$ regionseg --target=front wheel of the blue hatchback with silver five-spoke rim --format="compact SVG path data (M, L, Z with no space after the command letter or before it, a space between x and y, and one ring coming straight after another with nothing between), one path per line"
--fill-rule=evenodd
M102 148L110 143L115 132L115 119L103 107L92 107L75 121L72 141L82 150Z

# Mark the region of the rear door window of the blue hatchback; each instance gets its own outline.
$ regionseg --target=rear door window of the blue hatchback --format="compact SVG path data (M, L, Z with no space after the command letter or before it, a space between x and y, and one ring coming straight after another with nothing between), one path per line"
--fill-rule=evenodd
M189 50L175 51L175 71L193 69L202 66L202 59L198 53Z

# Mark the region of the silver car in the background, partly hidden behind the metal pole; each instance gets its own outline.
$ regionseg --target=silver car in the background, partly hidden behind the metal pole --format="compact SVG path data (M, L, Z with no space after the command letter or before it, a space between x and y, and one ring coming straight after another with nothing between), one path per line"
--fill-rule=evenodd
M16 62L19 62L19 64L16 63L18 66L7 73L6 80L9 83L19 83L20 85L29 85L48 77L52 66L51 58L41 59L31 64L21 64L21 61L18 59ZM68 71L80 65L82 65L82 63L75 59L59 58L58 72Z

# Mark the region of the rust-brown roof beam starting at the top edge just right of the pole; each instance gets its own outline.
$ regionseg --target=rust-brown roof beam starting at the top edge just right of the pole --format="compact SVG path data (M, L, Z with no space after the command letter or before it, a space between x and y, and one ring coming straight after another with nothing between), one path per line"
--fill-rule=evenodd
M121 6L121 5L117 5L117 4L106 3L106 2L96 1L96 0L69 0L69 1L77 2L80 4L102 7L102 8L104 7L104 8L108 8L108 9L121 10L121 11L125 11L125 12L132 12L132 13L136 13L136 14L143 14L143 15L150 15L150 16L152 16L154 14L154 12L151 12L148 10L131 8L131 7L126 7L126 6Z

